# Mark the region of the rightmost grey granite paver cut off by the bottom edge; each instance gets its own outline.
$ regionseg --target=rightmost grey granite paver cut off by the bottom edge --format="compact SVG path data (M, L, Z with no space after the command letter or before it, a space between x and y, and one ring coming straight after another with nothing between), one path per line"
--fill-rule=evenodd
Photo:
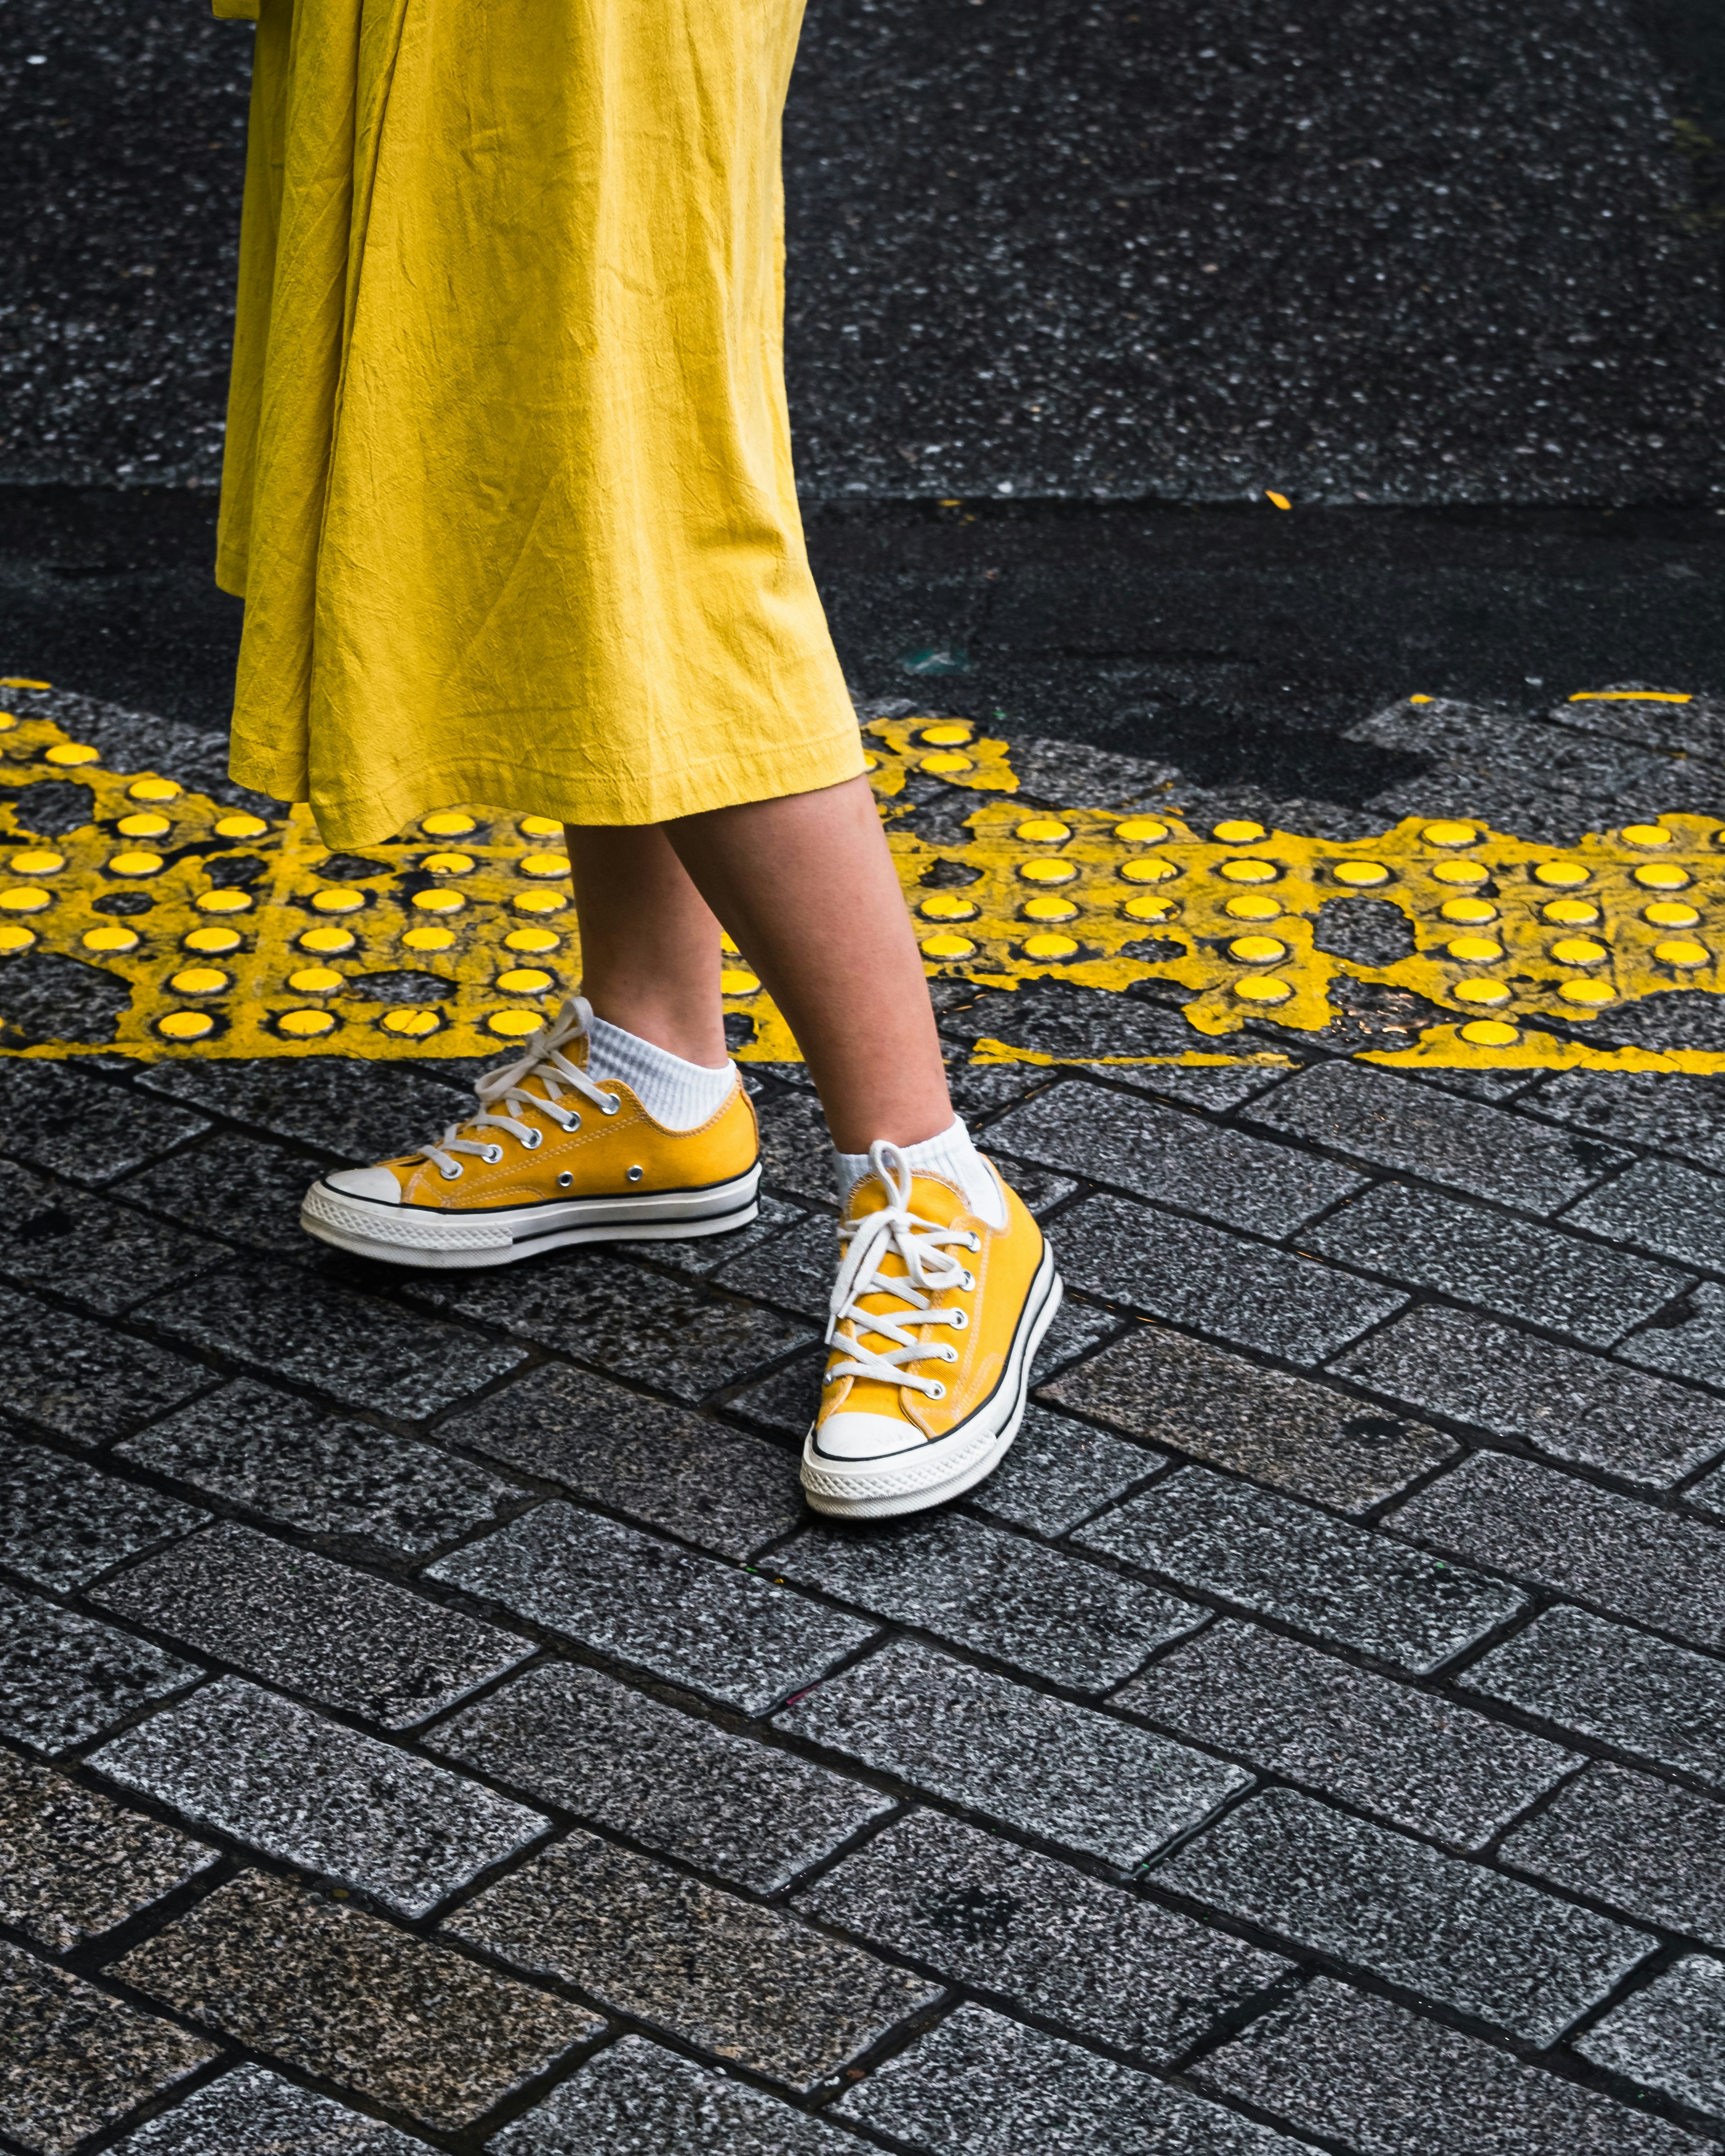
M1333 1977L1210 2053L1192 2078L1358 2156L1703 2156L1665 2119Z

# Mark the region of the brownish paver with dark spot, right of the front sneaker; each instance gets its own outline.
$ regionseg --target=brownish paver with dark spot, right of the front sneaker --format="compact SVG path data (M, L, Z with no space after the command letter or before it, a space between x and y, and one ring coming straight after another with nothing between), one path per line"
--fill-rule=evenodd
M1455 1457L1453 1438L1352 1393L1264 1369L1167 1326L1134 1326L1048 1397L1253 1481L1365 1511Z

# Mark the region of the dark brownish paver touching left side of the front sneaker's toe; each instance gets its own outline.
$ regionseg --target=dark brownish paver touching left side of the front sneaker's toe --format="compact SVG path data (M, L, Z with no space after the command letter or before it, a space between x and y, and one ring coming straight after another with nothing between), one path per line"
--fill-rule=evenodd
M528 1371L438 1436L724 1557L746 1557L804 1518L785 1447L580 1369Z

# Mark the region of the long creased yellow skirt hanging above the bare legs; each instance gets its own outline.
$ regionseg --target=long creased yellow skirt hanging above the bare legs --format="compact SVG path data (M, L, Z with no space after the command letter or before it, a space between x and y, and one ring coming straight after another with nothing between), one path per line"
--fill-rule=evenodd
M224 9L246 0L222 0ZM802 0L259 0L233 776L330 845L837 785L778 123Z

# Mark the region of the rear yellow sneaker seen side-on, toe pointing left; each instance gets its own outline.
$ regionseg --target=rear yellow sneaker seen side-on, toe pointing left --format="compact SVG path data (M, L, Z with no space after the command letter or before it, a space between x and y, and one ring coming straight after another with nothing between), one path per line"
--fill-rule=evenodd
M459 1268L753 1220L761 1166L742 1084L696 1130L666 1130L621 1080L586 1076L586 1020L571 996L520 1061L479 1080L477 1112L436 1145L319 1177L300 1227L392 1266Z

